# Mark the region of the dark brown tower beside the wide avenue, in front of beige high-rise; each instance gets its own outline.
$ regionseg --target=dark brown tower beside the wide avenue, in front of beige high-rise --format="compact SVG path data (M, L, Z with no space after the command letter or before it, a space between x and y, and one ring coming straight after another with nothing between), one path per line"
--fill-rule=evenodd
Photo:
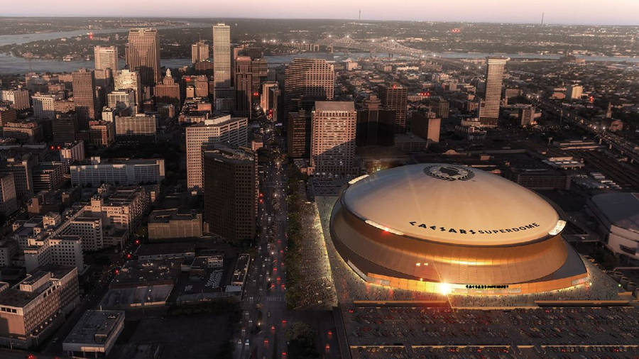
M257 155L244 148L202 148L204 221L227 241L253 240L258 201Z

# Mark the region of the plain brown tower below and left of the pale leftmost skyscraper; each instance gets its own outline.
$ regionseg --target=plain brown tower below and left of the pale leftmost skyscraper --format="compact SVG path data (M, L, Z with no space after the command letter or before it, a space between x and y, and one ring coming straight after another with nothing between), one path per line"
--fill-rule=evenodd
M89 120L96 119L99 106L95 98L95 77L92 70L80 69L72 74L73 103L80 130L89 129Z

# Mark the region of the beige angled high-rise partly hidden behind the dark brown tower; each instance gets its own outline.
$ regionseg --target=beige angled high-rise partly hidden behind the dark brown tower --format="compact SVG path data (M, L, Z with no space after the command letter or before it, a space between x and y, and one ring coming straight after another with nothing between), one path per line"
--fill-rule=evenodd
M206 119L186 128L187 187L202 189L202 146L224 143L231 147L243 147L248 142L246 117L230 115Z

